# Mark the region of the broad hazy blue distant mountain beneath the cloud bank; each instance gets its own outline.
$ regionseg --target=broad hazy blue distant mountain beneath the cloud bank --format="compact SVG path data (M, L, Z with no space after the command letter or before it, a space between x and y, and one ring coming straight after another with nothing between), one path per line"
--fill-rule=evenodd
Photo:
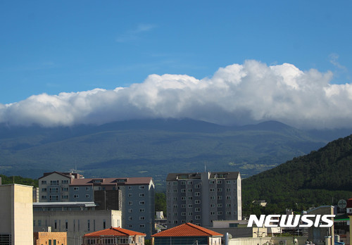
M352 130L351 130L352 132ZM222 126L190 119L43 128L0 125L0 173L40 177L78 169L86 177L240 171L249 177L327 144L281 122Z

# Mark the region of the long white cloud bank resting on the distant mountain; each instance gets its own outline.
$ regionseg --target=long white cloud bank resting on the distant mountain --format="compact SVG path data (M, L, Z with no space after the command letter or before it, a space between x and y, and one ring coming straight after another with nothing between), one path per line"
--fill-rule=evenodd
M149 75L114 90L39 94L0 104L0 122L45 127L142 118L192 118L222 125L279 120L301 128L351 127L352 84L331 72L258 61L228 65L213 77Z

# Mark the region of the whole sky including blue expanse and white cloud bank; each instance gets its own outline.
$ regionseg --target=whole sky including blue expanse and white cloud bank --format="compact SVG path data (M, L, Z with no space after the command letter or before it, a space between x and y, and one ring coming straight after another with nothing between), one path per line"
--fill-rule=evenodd
M0 1L0 123L351 127L351 1Z

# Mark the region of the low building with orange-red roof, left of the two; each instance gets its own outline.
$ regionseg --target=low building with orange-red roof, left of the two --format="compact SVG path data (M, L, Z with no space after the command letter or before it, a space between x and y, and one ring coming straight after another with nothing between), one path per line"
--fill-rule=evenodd
M146 234L142 232L111 227L106 230L85 234L82 237L82 245L144 245L144 237L146 237Z

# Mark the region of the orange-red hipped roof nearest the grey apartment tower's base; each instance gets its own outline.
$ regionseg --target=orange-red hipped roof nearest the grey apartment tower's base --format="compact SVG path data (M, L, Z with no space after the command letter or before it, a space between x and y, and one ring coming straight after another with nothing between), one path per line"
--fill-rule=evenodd
M184 223L163 232L153 234L151 237L222 237L223 234L213 232L191 223Z

